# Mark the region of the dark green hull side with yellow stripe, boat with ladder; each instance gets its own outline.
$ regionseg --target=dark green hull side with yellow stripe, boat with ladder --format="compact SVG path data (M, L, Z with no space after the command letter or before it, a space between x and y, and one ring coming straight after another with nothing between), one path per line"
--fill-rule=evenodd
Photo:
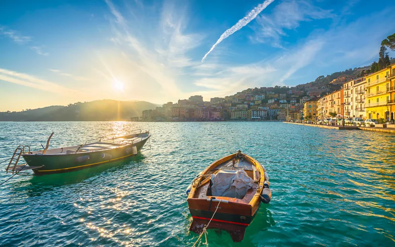
M42 166L33 169L33 172L37 175L63 173L102 165L136 155L130 152L130 148L136 146L137 153L140 152L148 138L131 145L96 152L62 155L24 154L23 158L29 166Z

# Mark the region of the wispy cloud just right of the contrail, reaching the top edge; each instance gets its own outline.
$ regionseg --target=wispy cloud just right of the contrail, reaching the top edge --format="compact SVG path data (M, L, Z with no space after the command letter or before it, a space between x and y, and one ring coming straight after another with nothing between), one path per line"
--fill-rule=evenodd
M280 38L286 36L285 30L295 29L303 21L333 16L331 10L314 6L310 0L285 0L276 5L271 15L257 17L258 28L254 28L256 36L250 39L258 42L271 41L273 46L282 48Z

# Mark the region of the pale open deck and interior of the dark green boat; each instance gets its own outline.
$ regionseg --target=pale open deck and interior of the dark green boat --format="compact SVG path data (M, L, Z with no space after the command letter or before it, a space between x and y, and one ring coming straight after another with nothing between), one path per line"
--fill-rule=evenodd
M85 144L69 146L69 147L61 147L61 148L53 148L47 149L45 154L75 154L75 153L84 153L91 151L101 151L117 148L120 146L130 145L143 139L146 139L149 136L148 133L141 134L131 134L126 136L114 137L110 139L102 140L103 138L98 138L95 142L85 142ZM30 154L42 154L44 150L39 151L31 151Z

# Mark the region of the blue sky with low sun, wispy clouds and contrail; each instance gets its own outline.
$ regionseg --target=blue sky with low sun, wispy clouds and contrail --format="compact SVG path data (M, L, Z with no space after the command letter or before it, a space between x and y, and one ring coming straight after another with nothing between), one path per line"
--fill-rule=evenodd
M394 11L394 0L0 0L0 111L311 82L377 61Z

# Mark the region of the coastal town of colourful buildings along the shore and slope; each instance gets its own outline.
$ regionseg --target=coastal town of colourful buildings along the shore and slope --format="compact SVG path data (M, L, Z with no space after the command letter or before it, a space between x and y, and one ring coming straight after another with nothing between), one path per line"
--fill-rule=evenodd
M324 121L358 118L390 122L395 114L395 64L329 86L249 88L224 98L195 95L145 110L143 121ZM332 90L338 88L337 90Z

